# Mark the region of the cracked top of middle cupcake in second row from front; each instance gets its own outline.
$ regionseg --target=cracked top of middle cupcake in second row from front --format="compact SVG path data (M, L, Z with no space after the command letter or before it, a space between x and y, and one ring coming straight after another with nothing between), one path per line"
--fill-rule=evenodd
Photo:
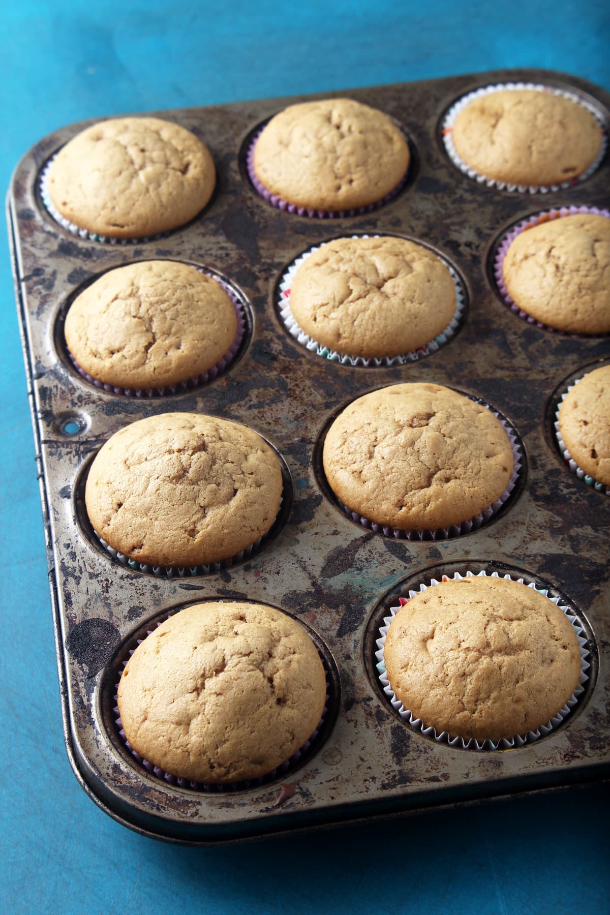
M468 521L508 485L499 420L439 384L395 384L353 401L324 443L331 489L352 511L401 531Z

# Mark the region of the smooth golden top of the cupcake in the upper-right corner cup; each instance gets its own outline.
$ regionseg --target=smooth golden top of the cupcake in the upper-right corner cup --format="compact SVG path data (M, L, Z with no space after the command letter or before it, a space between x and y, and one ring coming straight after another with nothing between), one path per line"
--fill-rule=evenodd
M540 187L577 178L593 164L602 131L592 113L540 90L489 92L457 115L455 150L479 175Z

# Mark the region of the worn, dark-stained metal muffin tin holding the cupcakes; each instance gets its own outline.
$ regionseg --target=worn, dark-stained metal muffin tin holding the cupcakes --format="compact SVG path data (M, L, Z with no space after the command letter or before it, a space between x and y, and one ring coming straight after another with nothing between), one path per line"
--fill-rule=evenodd
M39 177L48 157L85 124L41 140L16 169L8 196L16 299L22 324L55 622L66 747L85 791L137 831L209 844L446 803L533 791L610 772L610 501L563 465L552 423L556 391L610 360L608 339L532 326L502 302L498 238L539 210L607 206L610 156L557 193L486 188L444 151L444 114L462 94L498 81L533 81L581 93L608 125L610 96L562 73L502 70L332 93L389 113L414 150L409 178L379 210L316 219L273 208L252 187L246 155L273 99L161 113L199 135L219 180L187 226L149 242L109 244L71 235L45 210ZM326 93L326 97L331 93ZM427 358L345 365L306 349L282 325L278 288L288 264L330 238L398 234L441 253L463 279L465 317ZM227 279L248 303L246 336L219 378L151 399L96 388L73 368L61 322L67 302L103 271L177 259ZM479 530L441 541L396 539L348 517L320 463L327 425L348 401L396 382L437 382L482 398L507 417L523 448L508 503ZM555 396L554 396L555 395ZM94 544L82 510L91 455L123 425L167 411L217 414L250 425L276 447L291 479L276 530L241 562L172 577L121 565ZM543 582L583 627L589 680L573 712L522 748L472 751L434 743L401 721L376 675L376 639L392 598L415 581L466 569ZM251 599L301 619L326 662L329 705L321 733L292 769L241 790L191 791L159 780L124 747L113 714L122 662L138 636L194 601Z

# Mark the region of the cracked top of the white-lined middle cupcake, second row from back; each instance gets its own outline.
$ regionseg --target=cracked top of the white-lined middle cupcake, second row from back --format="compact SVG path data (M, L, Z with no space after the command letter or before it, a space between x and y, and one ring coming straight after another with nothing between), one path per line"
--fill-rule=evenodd
M340 238L297 270L300 328L350 356L396 356L429 343L455 311L455 285L432 251L404 238Z

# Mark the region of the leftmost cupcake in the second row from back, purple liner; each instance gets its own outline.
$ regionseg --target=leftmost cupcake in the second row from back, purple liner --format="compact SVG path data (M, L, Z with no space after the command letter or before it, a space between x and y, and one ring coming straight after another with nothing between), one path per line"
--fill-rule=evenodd
M241 335L243 319L240 316ZM216 280L173 261L102 274L70 306L65 338L85 376L117 392L196 384L239 347L238 315Z

